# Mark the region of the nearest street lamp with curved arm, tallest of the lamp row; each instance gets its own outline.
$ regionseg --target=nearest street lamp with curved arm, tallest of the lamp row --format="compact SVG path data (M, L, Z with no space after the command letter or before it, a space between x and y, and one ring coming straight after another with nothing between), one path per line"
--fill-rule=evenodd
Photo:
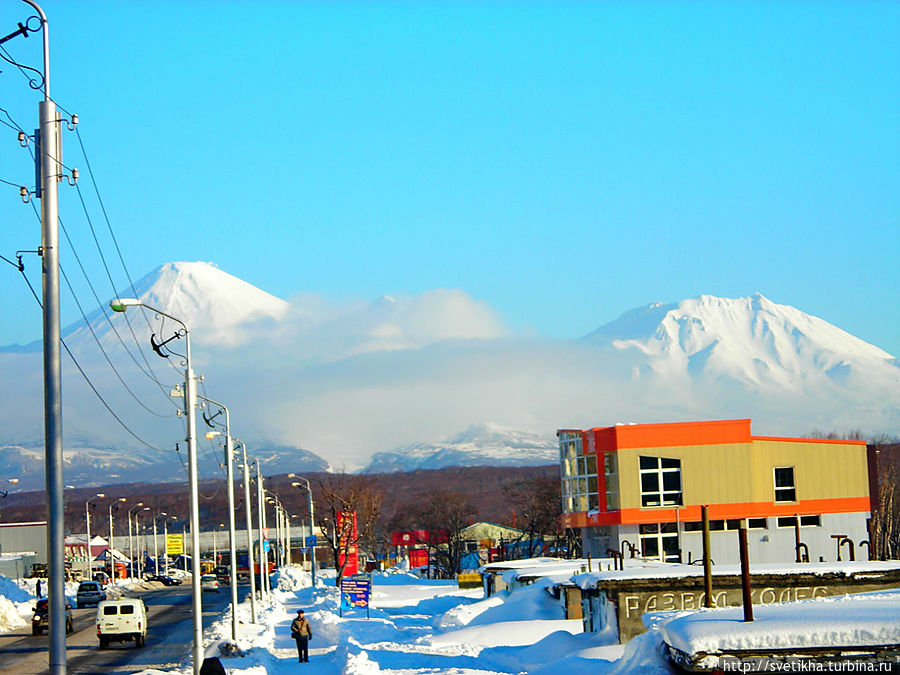
M200 667L203 664L203 606L200 590L200 505L197 477L197 439L194 430L194 408L197 406L197 394L194 390L194 371L191 367L191 333L187 324L171 314L163 312L144 304L137 298L115 298L109 303L114 312L124 312L129 307L145 307L159 316L164 316L181 326L184 331L185 358L184 358L184 415L187 418L187 444L188 444L188 482L191 490L191 591L193 595L193 619L194 619L194 675L200 675ZM181 337L181 332L176 333ZM171 338L170 338L171 339ZM151 338L152 343L152 338ZM152 343L154 349L159 352L161 347Z

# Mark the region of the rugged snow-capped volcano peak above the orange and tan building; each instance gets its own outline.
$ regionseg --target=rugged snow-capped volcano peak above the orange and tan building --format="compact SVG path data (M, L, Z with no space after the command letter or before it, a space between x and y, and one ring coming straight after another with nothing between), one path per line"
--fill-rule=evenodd
M830 380L898 381L887 352L760 294L703 295L623 314L583 338L634 352L663 379L727 379L744 386L798 390Z

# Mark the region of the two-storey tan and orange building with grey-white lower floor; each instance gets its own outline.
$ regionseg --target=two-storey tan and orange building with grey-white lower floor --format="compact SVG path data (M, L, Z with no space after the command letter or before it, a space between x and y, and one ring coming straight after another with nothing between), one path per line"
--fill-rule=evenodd
M717 564L738 562L742 519L756 562L797 560L798 532L812 561L847 560L868 543L864 441L753 436L749 419L557 436L563 524L580 530L584 555L695 561L703 505Z

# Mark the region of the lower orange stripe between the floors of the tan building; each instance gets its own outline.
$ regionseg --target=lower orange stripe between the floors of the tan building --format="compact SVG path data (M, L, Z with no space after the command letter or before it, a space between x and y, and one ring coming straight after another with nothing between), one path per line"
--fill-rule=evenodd
M827 513L863 513L870 510L868 497L842 497L835 499L805 499L792 504L773 502L745 502L735 504L710 504L712 520L731 518L768 518L772 516L814 516ZM622 509L610 513L564 513L565 527L596 527L598 525L626 525L638 523L674 523L701 519L700 505L677 509Z

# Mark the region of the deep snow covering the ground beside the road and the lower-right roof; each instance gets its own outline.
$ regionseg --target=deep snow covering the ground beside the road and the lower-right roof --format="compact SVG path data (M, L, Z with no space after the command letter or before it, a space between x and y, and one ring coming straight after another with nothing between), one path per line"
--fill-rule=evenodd
M300 568L279 570L270 599L257 603L257 623L250 621L249 601L238 607L240 655L222 655L230 643L230 609L206 631L206 655L219 656L228 673L239 675L282 675L298 668L320 675L652 675L674 672L664 639L686 650L713 651L787 646L783 640L771 643L772 635L791 635L798 646L831 646L841 642L836 631L851 629L850 642L856 644L900 639L900 590L761 606L759 621L750 625L741 622L740 608L645 615L648 632L619 645L614 635L583 633L580 620L566 620L548 592L550 579L483 599L481 589L461 590L452 581L376 573L367 617L359 609L341 616L334 579L322 576L312 588ZM0 630L2 622L16 620L17 608L30 611L33 584L0 578ZM290 637L298 609L313 627L310 662L303 665ZM179 669L140 675L188 675L188 658Z

